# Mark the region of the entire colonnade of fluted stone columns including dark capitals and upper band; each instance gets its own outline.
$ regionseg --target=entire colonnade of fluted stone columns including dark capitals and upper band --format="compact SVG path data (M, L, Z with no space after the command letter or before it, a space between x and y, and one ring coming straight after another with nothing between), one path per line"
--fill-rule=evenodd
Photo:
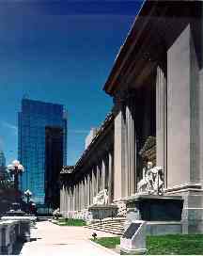
M136 116L135 93L135 89L117 92L114 96L111 133L104 129L100 143L90 148L82 164L75 166L74 175L67 174L70 178L66 180L70 182L63 184L60 197L60 210L64 215L87 209L103 189L108 190L109 203L123 201L136 193L139 139L136 121L139 121L139 117ZM156 74L156 99L152 104L154 107L156 104L156 165L164 167L166 171L166 78L159 66ZM148 129L151 129L150 126ZM151 132L145 136L150 136ZM103 147L109 137L112 140L111 150L109 145Z

